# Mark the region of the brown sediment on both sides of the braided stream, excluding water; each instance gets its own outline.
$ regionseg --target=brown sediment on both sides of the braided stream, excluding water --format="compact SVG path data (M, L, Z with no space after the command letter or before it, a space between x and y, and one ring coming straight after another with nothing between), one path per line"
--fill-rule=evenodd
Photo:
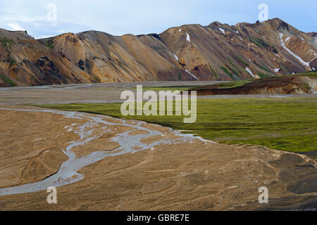
M43 145L62 155L63 144L79 138L63 127L82 122L52 113L11 110L1 110L0 117L1 121L8 121L0 125L1 134L6 134L0 139L1 153L5 149L0 158L1 187L25 184L17 176L23 170L25 177L35 179L36 173L22 162L39 155L41 148L36 139L45 138ZM151 124L144 127L164 130L164 139L177 139L169 129ZM111 137L124 131L117 128L118 133L105 134L74 148L76 156L115 149ZM151 144L156 138L145 143ZM56 159L56 167L65 160ZM42 159L45 165L49 160L51 157ZM53 168L48 171L54 172ZM310 204L317 196L316 160L297 153L204 143L199 139L104 158L79 172L85 179L57 188L56 205L46 203L46 191L39 191L1 196L1 210L278 210ZM261 186L269 190L268 205L257 202Z

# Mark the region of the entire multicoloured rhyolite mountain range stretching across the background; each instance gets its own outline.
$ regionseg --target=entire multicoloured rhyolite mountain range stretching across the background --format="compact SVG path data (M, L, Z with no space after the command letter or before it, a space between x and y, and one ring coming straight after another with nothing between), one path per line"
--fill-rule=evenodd
M289 75L317 68L316 39L278 18L121 37L87 31L34 39L0 29L0 86Z

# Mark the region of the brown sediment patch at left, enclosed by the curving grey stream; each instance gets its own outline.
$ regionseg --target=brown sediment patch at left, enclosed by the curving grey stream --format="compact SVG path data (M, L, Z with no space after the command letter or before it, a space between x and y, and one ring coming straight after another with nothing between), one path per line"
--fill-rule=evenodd
M69 141L79 139L67 126L80 120L52 113L0 112L1 187L40 181L56 173L68 159L62 150Z

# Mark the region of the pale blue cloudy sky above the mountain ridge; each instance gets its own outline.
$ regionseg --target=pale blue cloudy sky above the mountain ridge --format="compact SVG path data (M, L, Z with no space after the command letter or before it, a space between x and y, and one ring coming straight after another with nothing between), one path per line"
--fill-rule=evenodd
M161 33L185 24L235 25L280 18L303 32L317 32L316 0L1 0L0 28L27 30L35 38L99 30L113 35Z

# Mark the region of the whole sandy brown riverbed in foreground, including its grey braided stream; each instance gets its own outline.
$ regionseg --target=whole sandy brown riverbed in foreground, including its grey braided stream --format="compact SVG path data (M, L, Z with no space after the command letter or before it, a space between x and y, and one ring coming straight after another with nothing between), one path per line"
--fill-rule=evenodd
M0 192L8 190L1 210L277 210L316 203L316 160L305 155L100 115L1 108ZM82 144L69 149L71 143ZM58 204L49 205L45 189L56 179ZM258 203L261 186L268 187L268 205Z

